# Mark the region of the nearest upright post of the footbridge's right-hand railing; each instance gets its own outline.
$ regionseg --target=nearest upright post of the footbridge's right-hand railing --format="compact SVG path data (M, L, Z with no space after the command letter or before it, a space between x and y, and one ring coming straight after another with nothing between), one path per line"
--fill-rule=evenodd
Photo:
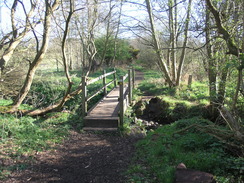
M120 126L124 123L124 80L123 76L120 76L119 81L119 119Z

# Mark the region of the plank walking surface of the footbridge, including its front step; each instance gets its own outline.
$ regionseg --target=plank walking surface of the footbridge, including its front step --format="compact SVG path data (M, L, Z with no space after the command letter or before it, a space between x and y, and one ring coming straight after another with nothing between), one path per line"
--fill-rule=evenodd
M98 102L84 118L84 130L117 130L119 126L119 87Z

